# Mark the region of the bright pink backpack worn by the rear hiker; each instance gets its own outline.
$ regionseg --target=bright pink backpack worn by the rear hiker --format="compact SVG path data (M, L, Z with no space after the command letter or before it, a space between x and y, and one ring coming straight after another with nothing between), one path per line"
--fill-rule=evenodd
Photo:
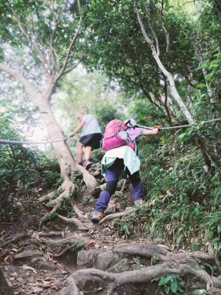
M135 143L131 141L127 129L128 122L123 123L120 120L111 120L105 129L102 148L107 151L112 148L118 148L122 146L129 146L135 151Z

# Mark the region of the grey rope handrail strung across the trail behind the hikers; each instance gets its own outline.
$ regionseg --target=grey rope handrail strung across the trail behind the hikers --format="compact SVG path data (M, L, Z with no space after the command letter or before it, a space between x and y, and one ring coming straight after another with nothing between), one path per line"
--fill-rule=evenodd
M200 124L203 125L205 123L212 123L212 122L218 122L218 121L221 121L221 118L202 121ZM188 124L188 125L172 126L172 127L162 127L161 130L174 129L174 128L184 128L184 127L194 126L196 124L197 123ZM154 129L154 127L142 126L142 125L138 125L138 124L136 124L136 126L141 127L141 128L145 128L145 129L151 129L151 130ZM60 141L67 140L69 137L70 136L66 136L62 139L55 140L55 141L49 141L49 142L27 142L27 141L11 141L11 140L0 139L0 144L2 144L2 145L43 145L43 144L46 145L46 144L53 144L53 143L58 143Z

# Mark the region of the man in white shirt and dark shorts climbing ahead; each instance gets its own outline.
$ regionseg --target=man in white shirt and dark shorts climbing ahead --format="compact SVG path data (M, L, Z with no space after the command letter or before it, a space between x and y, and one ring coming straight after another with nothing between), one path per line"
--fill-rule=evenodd
M85 114L84 112L78 112L76 114L77 120L80 122L75 130L69 135L73 137L79 130L82 130L81 137L77 143L77 157L78 164L83 166L86 170L89 170L91 166L90 157L93 149L101 147L101 140L103 134L97 119L93 115ZM85 161L83 163L83 147L85 154Z

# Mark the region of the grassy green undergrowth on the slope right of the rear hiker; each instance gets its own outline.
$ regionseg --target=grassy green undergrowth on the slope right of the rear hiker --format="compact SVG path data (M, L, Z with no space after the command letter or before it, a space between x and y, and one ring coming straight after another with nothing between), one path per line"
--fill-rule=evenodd
M215 158L209 139L218 136L219 125L203 128L210 134L206 148ZM148 152L145 145L140 171L145 204L122 221L115 220L119 233L161 237L177 249L205 250L209 242L220 249L221 166L217 157L210 172L203 169L199 148L190 140L192 132L186 130L184 136L176 137L162 134L155 152L152 147Z

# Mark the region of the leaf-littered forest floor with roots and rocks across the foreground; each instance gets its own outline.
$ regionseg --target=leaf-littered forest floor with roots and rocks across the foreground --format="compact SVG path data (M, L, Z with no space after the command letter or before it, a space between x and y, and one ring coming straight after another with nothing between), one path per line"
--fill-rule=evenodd
M123 187L122 191L118 194L124 195L127 204L112 200L108 213L124 212L126 207L137 210L128 186ZM149 283L156 277L162 277L162 269L165 275L174 269L171 274L190 276L186 258L188 256L191 260L198 254L192 256L182 250L175 251L173 245L165 245L161 239L151 243L139 236L127 239L119 234L112 219L92 224L90 218L96 200L88 196L87 200L81 198L76 203L83 213L85 228L55 217L44 222L39 231L39 220L48 212L48 208L38 199L45 193L40 186L33 188L28 195L24 188L18 188L10 198L10 219L2 217L0 220L0 267L15 295L164 295L168 293L164 292L158 281ZM178 255L177 259L171 256L173 254ZM201 260L214 260L212 256L211 253L200 253ZM153 266L154 257L162 263L163 268ZM145 274L147 279L142 279L148 267L155 267L153 274ZM200 278L205 289L212 290L212 285L219 285L212 282L210 274L207 276L206 272L201 273L200 269L195 268L193 275ZM132 272L133 278L128 280L126 276ZM72 278L72 274L76 277ZM120 283L117 283L117 279ZM69 292L65 286L71 286L72 280L77 282L79 289L76 291L76 284L73 283ZM106 286L107 282L109 287ZM196 290L197 283L193 285ZM214 290L210 294L221 294L217 288Z

